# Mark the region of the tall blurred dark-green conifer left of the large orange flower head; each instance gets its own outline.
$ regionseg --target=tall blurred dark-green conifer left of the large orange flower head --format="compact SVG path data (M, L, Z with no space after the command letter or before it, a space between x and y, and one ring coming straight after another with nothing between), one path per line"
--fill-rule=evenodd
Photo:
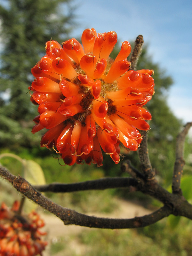
M62 43L73 27L69 0L9 0L1 6L2 42L1 143L32 145L31 124L36 108L30 103L28 86L33 81L31 68L44 55L52 38ZM3 95L3 94L2 94ZM30 126L30 129L28 128Z

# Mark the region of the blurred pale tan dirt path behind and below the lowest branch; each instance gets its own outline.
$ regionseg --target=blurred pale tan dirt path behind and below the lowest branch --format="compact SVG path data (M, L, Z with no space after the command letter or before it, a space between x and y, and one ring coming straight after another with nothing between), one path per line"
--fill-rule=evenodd
M135 216L143 216L152 212L152 210L148 210L138 204L124 201L122 199L116 199L116 200L117 200L118 208L113 213L100 214L95 212L94 213L89 212L87 214L98 216L98 217L107 217L107 218L134 218ZM46 248L46 251L44 251L43 253L44 256L53 256L53 255L49 255L50 245L52 243L57 243L60 240L60 237L78 235L84 230L90 230L90 228L80 227L75 225L65 226L59 218L55 217L52 214L41 214L41 216L46 223L46 228L45 228L47 232L46 241L48 241L49 243L49 245ZM97 230L96 228L94 229ZM70 241L71 246L73 243L75 243L77 254L84 251L84 245L78 244L77 241ZM58 254L55 254L55 256L56 255L62 255L62 254L58 253Z

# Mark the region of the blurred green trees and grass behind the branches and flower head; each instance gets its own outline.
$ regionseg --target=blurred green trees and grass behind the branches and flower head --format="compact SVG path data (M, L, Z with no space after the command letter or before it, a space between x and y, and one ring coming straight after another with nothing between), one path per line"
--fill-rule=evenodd
M30 102L30 95L27 93L34 79L30 69L44 56L44 45L47 41L52 38L62 43L72 37L73 28L76 26L75 8L75 0L9 0L2 1L1 6L3 48L1 51L1 153L14 153L21 158L35 161L42 167L47 183L128 175L122 173L120 164L114 164L108 156L104 156L103 166L100 168L94 165L60 166L49 150L40 148L42 133L38 132L35 135L31 133L34 125L32 120L38 113L37 106ZM132 40L135 39L132 38ZM116 45L111 53L112 58L115 58L120 47L120 44ZM173 84L172 77L167 76L162 67L152 62L148 55L148 46L143 48L137 67L137 69L145 68L153 69L155 72L153 77L156 92L147 104L152 114L151 130L148 132L150 159L159 182L170 189L175 161L175 139L183 124L172 114L167 105L166 95ZM132 164L139 168L137 152L128 153L122 150L124 159L130 159ZM191 188L191 158L191 140L187 138L183 178L187 179L188 192ZM22 164L17 160L4 157L1 162L12 173L21 172ZM60 163L62 164L61 161ZM149 208L159 205L158 202L138 192L128 194L126 190L115 189L102 193L86 193L86 196L83 196L83 193L74 193L65 195L65 199L63 195L59 198L51 193L47 195L53 200L59 200L58 203L62 205L68 203L66 207L76 207L81 212L94 211L95 208L98 212L112 212L116 207L116 201L113 201L116 196L126 200L137 200L137 202L141 200L142 204ZM189 194L188 199L191 197ZM13 200L14 198L10 203ZM188 221L182 219L179 222L178 218L173 217L173 220L168 222L168 219L171 220L167 218L160 223L138 230L114 232L87 229L76 239L81 244L89 246L86 255L191 255L191 228ZM183 225L185 225L185 232L181 232ZM51 255L65 249L62 246L65 240L62 239L64 238L61 238L61 245L59 242L53 244ZM132 242L128 243L130 239ZM100 246L95 246L95 240L100 243Z

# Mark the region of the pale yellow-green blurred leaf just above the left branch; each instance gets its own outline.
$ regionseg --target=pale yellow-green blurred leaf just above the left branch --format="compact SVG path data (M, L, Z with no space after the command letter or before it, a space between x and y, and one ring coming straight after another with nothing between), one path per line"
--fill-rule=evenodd
M46 183L41 166L33 160L26 160L24 178L32 185L44 185Z

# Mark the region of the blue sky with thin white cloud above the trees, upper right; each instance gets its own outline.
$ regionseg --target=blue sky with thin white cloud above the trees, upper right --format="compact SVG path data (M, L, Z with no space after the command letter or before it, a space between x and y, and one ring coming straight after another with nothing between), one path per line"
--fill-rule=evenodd
M103 33L116 31L118 40L133 41L143 35L148 52L174 84L168 104L184 122L192 121L192 30L191 0L76 0L79 26L72 37L85 28Z

